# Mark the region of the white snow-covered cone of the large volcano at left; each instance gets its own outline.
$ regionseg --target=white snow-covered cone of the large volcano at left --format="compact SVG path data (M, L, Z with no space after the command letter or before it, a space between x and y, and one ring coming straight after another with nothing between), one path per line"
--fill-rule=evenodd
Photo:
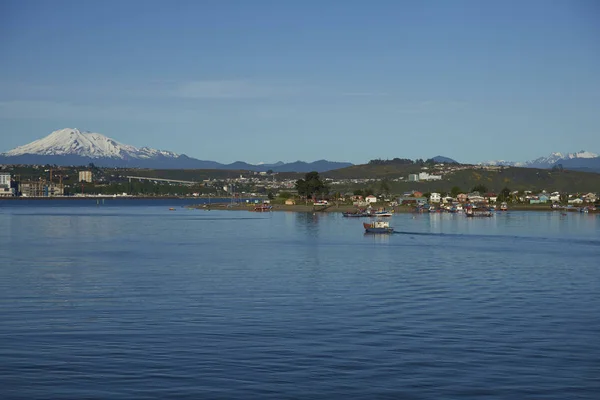
M10 150L6 156L20 156L24 154L36 155L77 155L90 158L118 158L139 159L162 157L178 157L177 154L154 150L148 147L138 149L134 146L122 144L100 133L80 131L79 129L65 128L52 132L45 138L36 140L24 146Z

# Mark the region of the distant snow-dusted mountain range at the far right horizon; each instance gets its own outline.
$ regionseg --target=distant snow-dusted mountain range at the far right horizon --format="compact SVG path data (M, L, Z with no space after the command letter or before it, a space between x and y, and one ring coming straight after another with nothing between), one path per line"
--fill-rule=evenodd
M552 153L548 156L525 162L496 160L486 161L481 163L481 165L504 165L509 167L540 169L553 168L554 166L560 165L563 169L600 172L600 157L598 154L581 150L576 153Z

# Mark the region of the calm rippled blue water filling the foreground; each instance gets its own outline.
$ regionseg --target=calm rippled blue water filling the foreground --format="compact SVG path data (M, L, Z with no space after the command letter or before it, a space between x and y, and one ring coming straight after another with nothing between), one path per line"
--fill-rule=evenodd
M181 205L0 202L0 398L600 398L599 216Z

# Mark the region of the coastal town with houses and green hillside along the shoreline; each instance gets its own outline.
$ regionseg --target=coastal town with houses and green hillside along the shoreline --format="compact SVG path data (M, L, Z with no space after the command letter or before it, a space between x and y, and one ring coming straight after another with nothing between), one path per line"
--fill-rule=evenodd
M265 199L273 204L314 204L334 201L362 207L371 204L392 206L423 206L464 204L467 202L518 205L594 206L598 194L591 190L567 192L553 188L521 188L511 190L487 187L473 182L472 187L453 186L450 190L425 190L448 187L447 182L460 172L499 173L505 167L433 164L418 171L390 178L338 178L333 174L319 176L324 190L299 193L300 174L256 171L205 171L203 179L165 178L158 171L123 170L119 168L0 166L0 197L26 198L86 198L86 197L183 197ZM27 171L26 173L24 173ZM153 176L154 175L154 176ZM159 175L159 176L156 176ZM164 175L164 174L163 174ZM213 176L211 176L213 175ZM317 174L318 175L318 174ZM335 176L335 175L333 175ZM444 183L446 183L444 185ZM536 186L536 185L532 185Z

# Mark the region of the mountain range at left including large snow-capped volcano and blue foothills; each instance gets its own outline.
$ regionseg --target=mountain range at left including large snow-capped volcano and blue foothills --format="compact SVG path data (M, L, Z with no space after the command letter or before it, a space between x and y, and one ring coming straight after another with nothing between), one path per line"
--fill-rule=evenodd
M239 169L273 172L326 172L351 166L351 163L318 160L312 163L296 161L274 164L248 164L236 161L221 164L216 161L198 160L185 154L137 148L119 143L100 133L66 128L50 135L0 154L0 164L51 164L88 165L99 167L137 167L154 169Z

